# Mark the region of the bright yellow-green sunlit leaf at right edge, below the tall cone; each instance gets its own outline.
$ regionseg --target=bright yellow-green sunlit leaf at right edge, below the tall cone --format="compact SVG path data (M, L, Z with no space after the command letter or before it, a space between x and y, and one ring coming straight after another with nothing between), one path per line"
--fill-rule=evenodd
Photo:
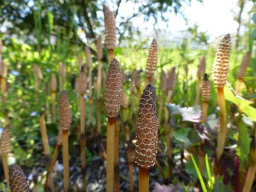
M256 121L256 109L250 106L252 102L237 95L229 83L224 86L224 96L226 100L234 103L242 113L247 115L247 117Z

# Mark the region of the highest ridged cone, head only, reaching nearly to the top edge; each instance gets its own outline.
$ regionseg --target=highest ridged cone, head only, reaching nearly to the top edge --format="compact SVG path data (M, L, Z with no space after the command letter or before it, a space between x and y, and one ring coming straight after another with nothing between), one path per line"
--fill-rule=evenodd
M105 24L105 35L106 35L106 46L108 49L114 49L116 43L116 26L115 16L109 7L103 6L104 13L104 24Z

